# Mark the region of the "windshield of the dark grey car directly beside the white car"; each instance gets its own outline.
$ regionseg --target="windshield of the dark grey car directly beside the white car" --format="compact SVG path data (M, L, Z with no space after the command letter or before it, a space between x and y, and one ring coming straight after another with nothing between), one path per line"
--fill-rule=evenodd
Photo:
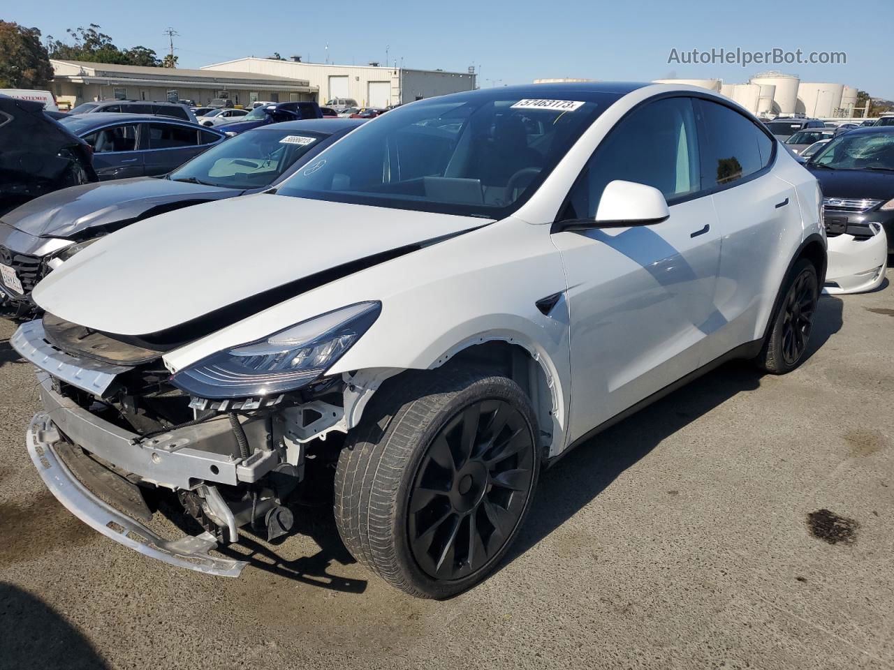
M252 130L211 147L171 172L168 179L224 188L263 188L328 137L303 130Z

